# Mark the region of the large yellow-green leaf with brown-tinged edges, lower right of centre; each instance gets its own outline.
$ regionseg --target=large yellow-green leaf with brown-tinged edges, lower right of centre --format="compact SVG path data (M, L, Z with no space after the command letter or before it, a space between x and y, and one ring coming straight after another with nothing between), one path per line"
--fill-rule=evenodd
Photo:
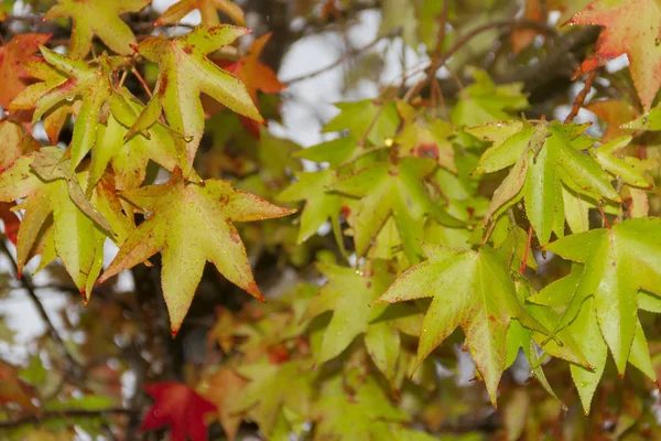
M548 331L519 302L508 267L494 249L483 246L473 251L432 244L423 247L429 259L407 270L378 301L394 303L432 297L422 322L414 370L460 325L496 407L511 319L527 327L546 334Z

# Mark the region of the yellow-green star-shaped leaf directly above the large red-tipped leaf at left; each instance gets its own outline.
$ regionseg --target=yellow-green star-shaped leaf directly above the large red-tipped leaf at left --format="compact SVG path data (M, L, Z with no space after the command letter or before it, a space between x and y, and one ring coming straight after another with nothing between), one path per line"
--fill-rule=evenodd
M201 25L174 40L159 35L141 42L134 50L159 64L160 69L155 93L136 125L143 128L151 126L163 109L170 127L192 139L186 144L186 159L192 164L204 132L201 93L237 114L262 122L246 86L206 57L247 32L245 28ZM187 173L188 170L184 170L184 174Z

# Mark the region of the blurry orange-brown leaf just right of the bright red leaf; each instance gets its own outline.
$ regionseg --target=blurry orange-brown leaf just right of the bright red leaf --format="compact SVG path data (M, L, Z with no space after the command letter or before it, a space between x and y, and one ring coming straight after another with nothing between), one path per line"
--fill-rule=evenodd
M218 409L218 420L229 441L234 441L243 420L240 413L232 411L248 381L231 368L220 368L208 374L201 385L202 395Z

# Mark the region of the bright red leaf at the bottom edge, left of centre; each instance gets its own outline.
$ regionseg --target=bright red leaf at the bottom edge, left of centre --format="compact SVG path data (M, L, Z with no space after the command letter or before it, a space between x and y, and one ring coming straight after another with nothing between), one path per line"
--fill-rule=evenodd
M216 406L201 397L182 383L158 383L145 385L144 391L155 402L149 408L140 430L153 430L166 426L173 441L206 441L205 413L216 411Z

